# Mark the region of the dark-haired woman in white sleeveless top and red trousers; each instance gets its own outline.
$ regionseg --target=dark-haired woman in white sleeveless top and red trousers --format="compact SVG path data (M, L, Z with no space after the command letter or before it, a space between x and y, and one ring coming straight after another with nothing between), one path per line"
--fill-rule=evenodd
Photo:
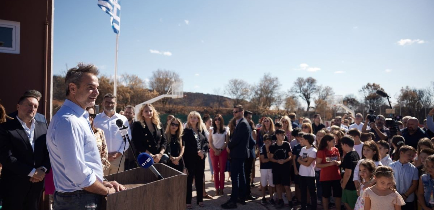
M229 128L224 126L223 116L214 116L213 129L209 136L210 158L214 169L216 196L223 195L224 169L227 162L226 147L229 143Z

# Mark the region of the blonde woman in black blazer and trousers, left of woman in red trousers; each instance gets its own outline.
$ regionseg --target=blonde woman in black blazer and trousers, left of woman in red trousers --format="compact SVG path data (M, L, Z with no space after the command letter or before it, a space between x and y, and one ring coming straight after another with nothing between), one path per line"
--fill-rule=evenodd
M187 168L187 209L191 209L193 179L197 192L197 204L204 207L202 185L205 171L205 154L208 152L208 139L201 115L195 111L188 114L187 126L182 139L185 142L184 163Z

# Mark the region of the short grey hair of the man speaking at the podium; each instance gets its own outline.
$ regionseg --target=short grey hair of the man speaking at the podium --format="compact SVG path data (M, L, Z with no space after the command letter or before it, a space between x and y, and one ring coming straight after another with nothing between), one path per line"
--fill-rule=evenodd
M84 64L79 63L76 67L70 68L66 73L65 77L65 87L66 87L66 96L69 96L69 83L74 83L77 87L80 87L80 81L85 73L90 73L95 76L99 74L98 68L93 64Z

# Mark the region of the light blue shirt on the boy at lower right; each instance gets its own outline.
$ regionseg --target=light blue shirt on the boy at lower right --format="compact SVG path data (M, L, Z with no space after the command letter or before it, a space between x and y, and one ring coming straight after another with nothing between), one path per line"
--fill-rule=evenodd
M419 180L419 171L411 163L402 164L401 162L395 161L389 166L393 169L393 176L395 177L396 182L396 191L399 194L404 194L410 189L411 184L413 184L413 180ZM413 202L414 201L414 192L408 195L405 202Z

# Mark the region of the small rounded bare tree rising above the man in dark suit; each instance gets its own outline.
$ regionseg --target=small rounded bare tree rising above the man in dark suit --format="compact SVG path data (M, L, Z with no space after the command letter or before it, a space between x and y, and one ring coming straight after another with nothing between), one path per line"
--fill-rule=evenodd
M231 79L225 93L232 98L233 105L243 104L250 95L250 85L241 79Z

